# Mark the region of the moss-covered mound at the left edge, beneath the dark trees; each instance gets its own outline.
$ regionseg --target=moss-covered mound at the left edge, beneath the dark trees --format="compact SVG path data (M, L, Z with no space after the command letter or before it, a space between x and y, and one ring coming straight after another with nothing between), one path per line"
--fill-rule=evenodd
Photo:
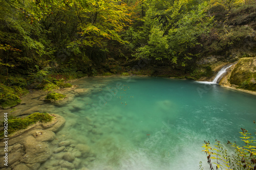
M0 106L3 109L8 109L10 107L18 105L20 102L20 97L25 96L29 93L27 89L22 89L20 87L14 86L13 88L6 86L4 84L0 85Z

